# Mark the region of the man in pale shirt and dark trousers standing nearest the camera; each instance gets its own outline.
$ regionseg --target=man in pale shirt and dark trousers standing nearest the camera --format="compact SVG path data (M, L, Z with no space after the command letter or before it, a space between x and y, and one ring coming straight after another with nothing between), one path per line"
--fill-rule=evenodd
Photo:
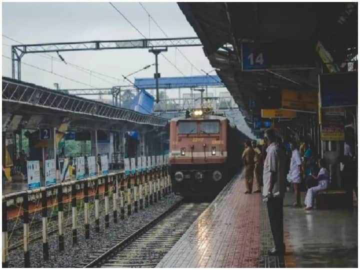
M266 196L267 212L275 246L267 251L268 255L281 255L285 252L283 243L283 197L285 193L285 152L276 146L275 130L265 131L267 154L263 167L262 195Z

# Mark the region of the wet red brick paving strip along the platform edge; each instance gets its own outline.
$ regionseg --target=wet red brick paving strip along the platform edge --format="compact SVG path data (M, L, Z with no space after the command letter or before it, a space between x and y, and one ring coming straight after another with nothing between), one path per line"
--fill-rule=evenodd
M261 196L244 194L240 178L226 185L156 267L258 267Z

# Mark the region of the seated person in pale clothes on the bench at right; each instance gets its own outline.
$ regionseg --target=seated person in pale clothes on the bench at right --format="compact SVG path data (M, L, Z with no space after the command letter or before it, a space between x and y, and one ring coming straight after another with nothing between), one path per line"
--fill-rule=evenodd
M311 176L314 179L318 180L318 184L316 186L313 186L313 187L310 187L309 189L307 189L305 201L304 201L305 210L312 208L315 194L318 191L327 189L329 186L329 174L328 174L327 169L325 168L324 159L321 158L318 160L318 166L319 166L320 170L319 170L317 176L311 174Z

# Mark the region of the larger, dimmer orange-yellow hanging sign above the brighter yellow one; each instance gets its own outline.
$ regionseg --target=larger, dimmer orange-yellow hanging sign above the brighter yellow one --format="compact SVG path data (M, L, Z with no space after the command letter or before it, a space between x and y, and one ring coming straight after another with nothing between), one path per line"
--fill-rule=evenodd
M283 89L281 107L297 111L316 112L317 93Z

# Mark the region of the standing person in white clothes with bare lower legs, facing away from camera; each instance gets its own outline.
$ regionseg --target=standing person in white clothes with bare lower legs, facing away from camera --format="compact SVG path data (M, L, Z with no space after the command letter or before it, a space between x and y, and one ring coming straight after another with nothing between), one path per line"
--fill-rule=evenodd
M295 142L290 142L291 160L290 160L290 169L287 173L287 181L293 184L295 191L296 201L293 203L294 207L300 207L300 183L301 183L301 157L300 152L296 148Z

